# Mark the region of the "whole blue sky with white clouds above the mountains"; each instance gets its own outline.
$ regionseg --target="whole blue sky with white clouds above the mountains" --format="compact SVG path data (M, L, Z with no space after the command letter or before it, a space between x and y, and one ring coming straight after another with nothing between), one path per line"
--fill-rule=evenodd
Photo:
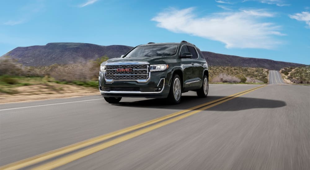
M187 40L203 51L310 64L309 0L12 0L0 14L0 56L49 42Z

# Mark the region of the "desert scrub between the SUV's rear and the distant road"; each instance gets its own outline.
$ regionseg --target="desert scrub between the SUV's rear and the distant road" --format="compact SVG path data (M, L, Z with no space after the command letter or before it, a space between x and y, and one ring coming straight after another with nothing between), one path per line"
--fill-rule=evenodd
M210 83L267 83L268 70L251 67L209 67Z

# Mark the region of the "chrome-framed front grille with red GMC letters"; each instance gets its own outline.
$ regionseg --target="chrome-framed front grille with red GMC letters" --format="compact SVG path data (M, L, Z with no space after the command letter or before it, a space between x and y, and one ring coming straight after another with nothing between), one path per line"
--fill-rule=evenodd
M106 79L135 80L148 79L148 65L107 65Z

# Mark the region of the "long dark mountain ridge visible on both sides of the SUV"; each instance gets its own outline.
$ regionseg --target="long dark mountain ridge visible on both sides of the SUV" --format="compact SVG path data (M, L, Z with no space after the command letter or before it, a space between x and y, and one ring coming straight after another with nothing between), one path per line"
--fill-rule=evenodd
M92 60L104 55L120 57L133 47L125 45L95 45L87 43L48 43L29 47L17 47L3 56L17 59L25 66L48 66L51 64L71 64L81 59ZM268 59L239 57L202 51L209 66L262 67L280 70L283 67L298 67L303 64L280 62Z

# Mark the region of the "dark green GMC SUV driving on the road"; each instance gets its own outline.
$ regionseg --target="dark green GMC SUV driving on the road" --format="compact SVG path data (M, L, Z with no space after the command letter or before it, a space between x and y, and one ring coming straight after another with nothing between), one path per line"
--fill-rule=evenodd
M206 97L208 78L207 62L195 45L186 41L148 43L103 62L99 89L111 104L122 97L166 98L178 104L187 91Z

